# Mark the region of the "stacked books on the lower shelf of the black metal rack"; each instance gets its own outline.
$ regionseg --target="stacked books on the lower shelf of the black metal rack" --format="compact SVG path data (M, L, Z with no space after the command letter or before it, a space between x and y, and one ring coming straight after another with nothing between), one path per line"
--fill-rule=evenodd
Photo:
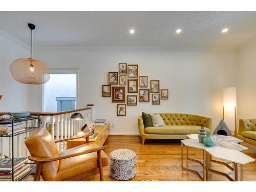
M14 181L29 172L27 161L26 157L13 158ZM12 181L12 158L0 159L0 181Z

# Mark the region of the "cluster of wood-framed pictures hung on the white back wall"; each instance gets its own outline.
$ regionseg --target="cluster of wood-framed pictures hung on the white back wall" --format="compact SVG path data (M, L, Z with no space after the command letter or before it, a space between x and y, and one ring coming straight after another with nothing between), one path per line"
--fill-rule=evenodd
M160 80L149 81L147 75L139 76L137 64L118 63L118 72L109 72L108 83L102 85L102 97L111 97L112 103L117 103L118 117L126 116L126 106L150 102L150 98L153 105L160 105L160 100L169 99L169 90L160 89Z

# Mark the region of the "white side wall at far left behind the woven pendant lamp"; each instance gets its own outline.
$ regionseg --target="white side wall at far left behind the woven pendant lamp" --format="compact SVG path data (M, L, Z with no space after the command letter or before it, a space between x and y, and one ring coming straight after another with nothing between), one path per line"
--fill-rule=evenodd
M15 81L10 74L12 61L27 58L30 50L22 42L0 30L0 100L1 112L30 110L30 86Z

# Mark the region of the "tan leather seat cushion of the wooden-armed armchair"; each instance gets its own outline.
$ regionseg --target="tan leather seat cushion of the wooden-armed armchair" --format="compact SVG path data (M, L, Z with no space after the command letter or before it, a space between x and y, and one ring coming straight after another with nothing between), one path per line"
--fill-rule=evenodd
M90 148L96 147L99 147L96 143L80 145L74 148L70 148L69 150L66 150L64 152L60 152L60 155L77 153L82 150L89 150ZM109 164L109 158L103 151L101 151L101 161L102 166L106 166ZM59 169L55 180L68 180L74 176L83 174L97 167L97 152L62 159L59 161Z

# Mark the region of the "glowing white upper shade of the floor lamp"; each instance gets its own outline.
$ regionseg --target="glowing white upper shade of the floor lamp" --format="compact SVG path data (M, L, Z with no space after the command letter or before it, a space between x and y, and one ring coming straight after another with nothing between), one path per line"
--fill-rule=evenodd
M224 89L223 105L225 107L237 106L237 88L225 88Z

